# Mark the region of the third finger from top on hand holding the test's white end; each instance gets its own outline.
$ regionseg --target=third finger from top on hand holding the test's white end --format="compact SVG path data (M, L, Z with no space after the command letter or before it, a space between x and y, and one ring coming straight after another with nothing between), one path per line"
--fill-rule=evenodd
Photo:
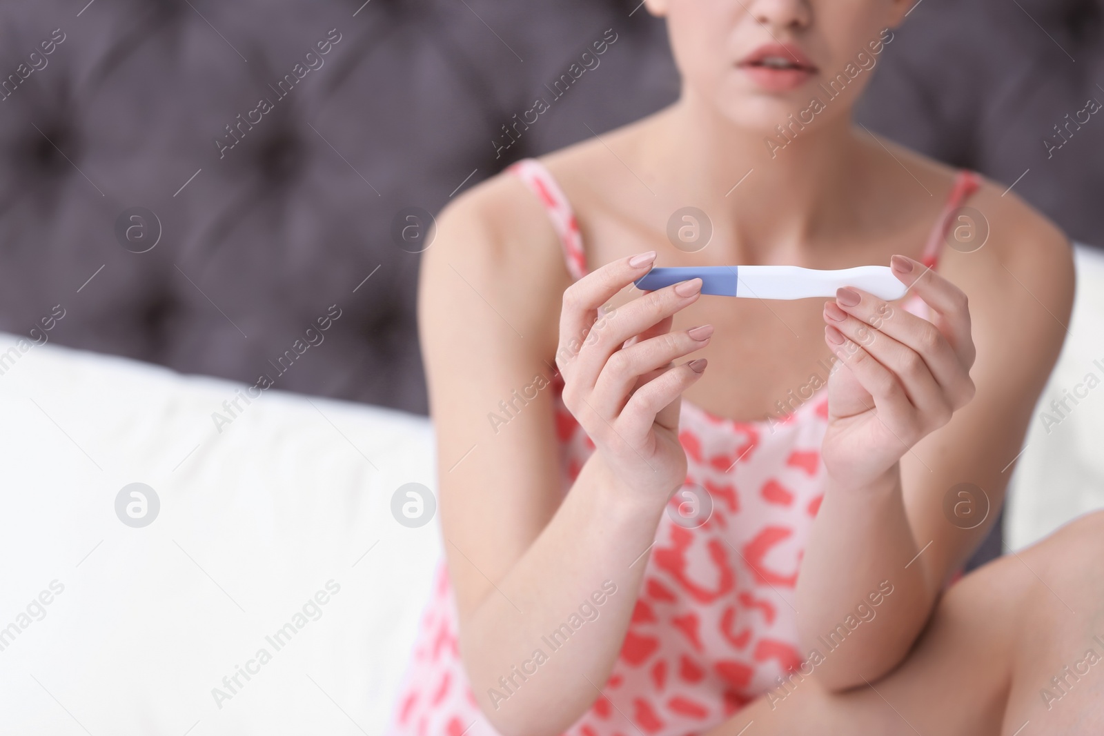
M861 345L896 376L914 410L930 416L933 425L943 426L949 420L951 403L916 351L848 314L834 301L825 303L824 316L825 321L851 342Z

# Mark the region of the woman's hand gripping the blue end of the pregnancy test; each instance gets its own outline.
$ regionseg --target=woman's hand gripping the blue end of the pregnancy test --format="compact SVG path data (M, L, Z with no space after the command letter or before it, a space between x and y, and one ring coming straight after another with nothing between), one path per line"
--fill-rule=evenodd
M619 258L564 291L556 367L564 405L618 484L635 499L662 505L686 480L678 438L682 392L705 370L704 359L673 361L704 348L713 333L709 324L671 332L671 317L698 300L701 279L645 292L599 313L655 259L655 252Z

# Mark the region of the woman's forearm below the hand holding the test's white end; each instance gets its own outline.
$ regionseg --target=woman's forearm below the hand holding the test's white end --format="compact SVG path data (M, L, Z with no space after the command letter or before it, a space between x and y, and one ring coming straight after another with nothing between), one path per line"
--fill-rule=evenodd
M913 538L896 467L866 488L829 480L797 583L803 653L824 655L827 687L872 681L907 653L935 601L917 557L927 543Z

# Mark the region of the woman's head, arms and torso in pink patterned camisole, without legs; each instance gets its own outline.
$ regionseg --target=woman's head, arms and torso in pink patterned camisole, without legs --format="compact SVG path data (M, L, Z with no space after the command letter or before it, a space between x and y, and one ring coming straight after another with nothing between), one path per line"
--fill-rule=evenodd
M999 508L1073 274L1015 195L852 127L910 4L648 0L679 100L443 213L420 309L448 567L400 733L697 733L840 622L826 697L913 647L995 515L945 508ZM988 241L946 248L966 203ZM909 299L630 286L885 263Z

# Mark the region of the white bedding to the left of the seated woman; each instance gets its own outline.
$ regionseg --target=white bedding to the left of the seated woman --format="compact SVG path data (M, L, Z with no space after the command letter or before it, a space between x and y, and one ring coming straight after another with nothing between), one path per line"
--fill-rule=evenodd
M4 367L0 734L382 730L440 551L390 512L435 490L426 419L268 391L219 434L238 384L53 344ZM160 498L144 529L115 513L131 482Z

